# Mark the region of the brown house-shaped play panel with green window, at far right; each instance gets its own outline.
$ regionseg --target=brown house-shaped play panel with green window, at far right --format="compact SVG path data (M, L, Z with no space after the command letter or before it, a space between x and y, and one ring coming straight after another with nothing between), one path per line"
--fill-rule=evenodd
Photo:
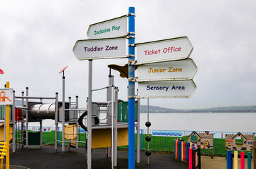
M254 134L225 134L226 150L252 151Z

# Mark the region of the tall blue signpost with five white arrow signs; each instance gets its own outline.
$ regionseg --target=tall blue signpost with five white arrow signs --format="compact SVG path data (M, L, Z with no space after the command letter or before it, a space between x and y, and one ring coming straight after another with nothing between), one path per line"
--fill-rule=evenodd
M197 72L197 66L188 57L193 51L193 46L188 37L135 44L134 7L129 8L128 15L90 25L87 37L87 40L78 40L73 47L73 53L78 60L89 60L87 168L92 167L92 60L128 58L128 168L133 169L135 168L135 98L192 96L196 89L192 79ZM127 46L128 55L126 55ZM137 61L135 61L135 46ZM135 65L138 66L137 80L135 80ZM135 82L139 82L138 96L135 96ZM139 158L140 156L137 158L138 161Z

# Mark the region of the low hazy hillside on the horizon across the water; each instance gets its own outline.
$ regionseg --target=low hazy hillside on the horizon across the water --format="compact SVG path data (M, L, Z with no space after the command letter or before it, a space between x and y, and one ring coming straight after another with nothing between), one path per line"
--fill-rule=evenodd
M236 113L236 112L256 112L256 106L229 106L203 109L172 109L158 106L150 106L150 113ZM140 105L140 112L147 113L147 105Z

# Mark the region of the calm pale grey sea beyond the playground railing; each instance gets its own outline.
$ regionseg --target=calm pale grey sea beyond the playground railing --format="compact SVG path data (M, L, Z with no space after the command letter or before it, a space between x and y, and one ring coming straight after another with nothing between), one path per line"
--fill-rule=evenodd
M104 118L106 113L101 113ZM141 130L147 130L147 121L147 113L140 113ZM256 113L149 113L149 121L150 130L256 132ZM43 120L43 126L54 127L54 120Z

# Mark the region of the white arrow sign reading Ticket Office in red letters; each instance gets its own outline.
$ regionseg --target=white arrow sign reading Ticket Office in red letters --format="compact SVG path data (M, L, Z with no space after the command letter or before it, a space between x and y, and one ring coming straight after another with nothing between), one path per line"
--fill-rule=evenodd
M157 63L188 58L193 46L188 37L164 39L154 42L135 44L138 64Z

